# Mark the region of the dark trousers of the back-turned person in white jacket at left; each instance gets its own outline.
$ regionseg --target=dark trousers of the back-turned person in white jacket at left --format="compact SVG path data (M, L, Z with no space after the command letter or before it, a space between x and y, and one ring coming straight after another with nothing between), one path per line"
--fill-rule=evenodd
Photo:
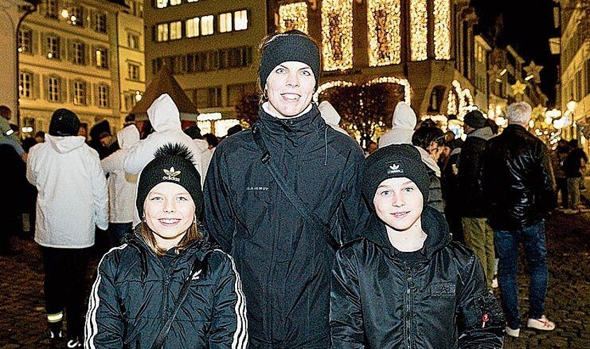
M66 310L68 337L84 337L86 272L90 248L41 247L45 265L45 311L47 315Z

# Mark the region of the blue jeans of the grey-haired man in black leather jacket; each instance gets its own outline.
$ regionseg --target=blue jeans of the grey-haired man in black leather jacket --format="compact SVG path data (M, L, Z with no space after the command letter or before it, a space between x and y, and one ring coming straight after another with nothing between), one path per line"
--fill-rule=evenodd
M520 230L494 230L498 264L498 284L502 307L508 327L520 328L518 313L518 290L516 272L518 269L519 244L522 244L527 258L529 285L529 318L540 318L545 314L547 295L547 250L545 248L545 221Z

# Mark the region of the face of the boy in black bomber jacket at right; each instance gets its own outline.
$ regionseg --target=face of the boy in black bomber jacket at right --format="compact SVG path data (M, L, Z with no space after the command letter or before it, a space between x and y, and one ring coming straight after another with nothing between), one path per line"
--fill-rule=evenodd
M419 220L423 196L414 181L407 177L395 177L379 184L373 204L381 221L393 230L404 231Z

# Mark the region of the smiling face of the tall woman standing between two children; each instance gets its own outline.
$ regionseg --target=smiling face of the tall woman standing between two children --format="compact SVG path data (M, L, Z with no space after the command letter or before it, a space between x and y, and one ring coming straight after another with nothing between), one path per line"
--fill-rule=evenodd
M266 79L266 96L271 112L296 117L311 103L315 76L305 63L287 61L275 66Z

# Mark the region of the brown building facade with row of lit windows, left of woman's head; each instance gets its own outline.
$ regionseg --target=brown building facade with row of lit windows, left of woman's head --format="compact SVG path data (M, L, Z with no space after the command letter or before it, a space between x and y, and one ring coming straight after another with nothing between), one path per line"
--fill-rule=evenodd
M235 105L257 91L257 47L266 35L260 0L154 0L144 8L146 76L163 66L199 108L202 133L239 123Z

